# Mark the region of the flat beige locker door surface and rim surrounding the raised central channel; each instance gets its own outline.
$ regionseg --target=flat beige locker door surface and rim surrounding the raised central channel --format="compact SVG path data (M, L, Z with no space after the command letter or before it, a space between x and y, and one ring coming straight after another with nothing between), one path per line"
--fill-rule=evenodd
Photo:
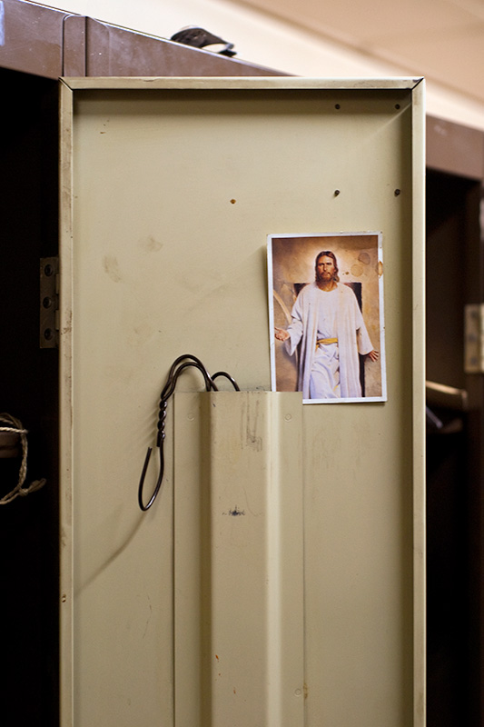
M74 346L63 492L74 499L75 727L173 718L170 456L153 510L135 503L170 364L190 352L242 389L269 390L266 235L339 230L382 232L388 402L302 411L306 724L420 727L421 86L71 86L62 255L74 255L74 287L67 276L62 305L74 317L61 333L64 351ZM184 374L181 388L200 381Z

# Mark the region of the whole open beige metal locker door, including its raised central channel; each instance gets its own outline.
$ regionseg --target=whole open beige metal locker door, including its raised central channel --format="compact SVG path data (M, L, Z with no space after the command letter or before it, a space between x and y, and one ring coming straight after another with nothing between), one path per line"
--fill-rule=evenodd
M64 79L63 727L192 727L193 714L207 726L423 726L423 118L420 78ZM355 230L382 235L387 401L305 406L270 393L267 235ZM167 421L163 491L141 513L158 392L188 351L230 371L242 393L197 394L186 373ZM253 532L250 519L222 514L245 509L239 496L217 500L224 460L241 449L235 399L260 400L262 492L278 483L276 500L255 507ZM298 431L293 449L281 413ZM230 432L238 443L221 449ZM200 504L206 488L220 513ZM238 581L217 537L237 548L242 528L253 612L247 649L234 647L222 669L207 644L230 635ZM264 585L268 563L275 588ZM212 636L190 652L203 619ZM233 679L218 681L227 669L246 684L243 709ZM291 669L301 678L286 679ZM259 691L254 674L266 678Z

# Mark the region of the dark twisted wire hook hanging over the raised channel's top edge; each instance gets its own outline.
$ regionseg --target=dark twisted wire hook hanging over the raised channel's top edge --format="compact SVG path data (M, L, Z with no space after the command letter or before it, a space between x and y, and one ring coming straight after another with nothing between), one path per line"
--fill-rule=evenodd
M184 363L183 363L184 362ZM150 507L153 505L154 501L156 500L156 497L158 496L158 493L160 492L160 488L162 486L163 482L163 473L164 473L164 453L163 453L163 443L164 443L164 424L166 419L166 408L168 406L168 399L170 396L174 393L176 382L178 381L178 377L186 368L193 367L198 369L202 372L203 380L205 382L205 391L210 392L214 391L217 392L218 388L215 384L215 379L219 376L223 376L224 378L228 379L231 383L235 391L239 392L240 388L238 384L234 381L230 373L226 373L225 371L218 371L217 373L214 373L213 376L208 373L205 366L202 364L200 359L198 359L196 356L193 356L192 354L183 354L183 356L179 356L176 361L173 362L170 371L168 373L168 378L166 380L166 383L163 386L163 391L160 395L160 410L158 415L158 424L157 429L158 433L156 435L156 446L158 447L160 451L160 471L158 473L158 479L156 481L156 484L154 485L153 494L150 497L147 504L143 503L143 485L144 485L144 479L146 477L146 472L148 470L148 465L150 463L150 457L153 452L153 447L148 447L148 450L146 452L146 456L144 458L144 464L143 464L143 470L141 473L140 483L138 486L138 504L140 506L140 509L143 510L143 513L145 513L147 510L150 509Z

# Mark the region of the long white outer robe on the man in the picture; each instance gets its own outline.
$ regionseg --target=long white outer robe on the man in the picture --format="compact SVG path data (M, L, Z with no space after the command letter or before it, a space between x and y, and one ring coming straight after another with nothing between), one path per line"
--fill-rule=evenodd
M336 316L336 337L340 359L340 395L343 399L361 398L358 354L370 354L373 346L355 294L348 285L338 283L337 286L339 305ZM318 336L317 296L324 294L315 282L302 288L292 307L292 321L287 329L291 336L287 341L290 354L294 353L302 339L298 391L302 392L303 399L311 398L311 371Z

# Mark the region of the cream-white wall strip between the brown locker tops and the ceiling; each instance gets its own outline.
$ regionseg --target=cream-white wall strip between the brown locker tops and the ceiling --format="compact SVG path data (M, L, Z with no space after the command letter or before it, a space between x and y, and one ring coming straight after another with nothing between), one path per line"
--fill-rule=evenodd
M90 15L150 35L170 38L185 25L201 25L235 45L237 57L294 75L381 77L414 75L415 69L382 63L369 53L331 43L271 15L228 0L58 0L52 7ZM426 75L422 68L420 75ZM431 81L429 114L484 129L484 104Z

